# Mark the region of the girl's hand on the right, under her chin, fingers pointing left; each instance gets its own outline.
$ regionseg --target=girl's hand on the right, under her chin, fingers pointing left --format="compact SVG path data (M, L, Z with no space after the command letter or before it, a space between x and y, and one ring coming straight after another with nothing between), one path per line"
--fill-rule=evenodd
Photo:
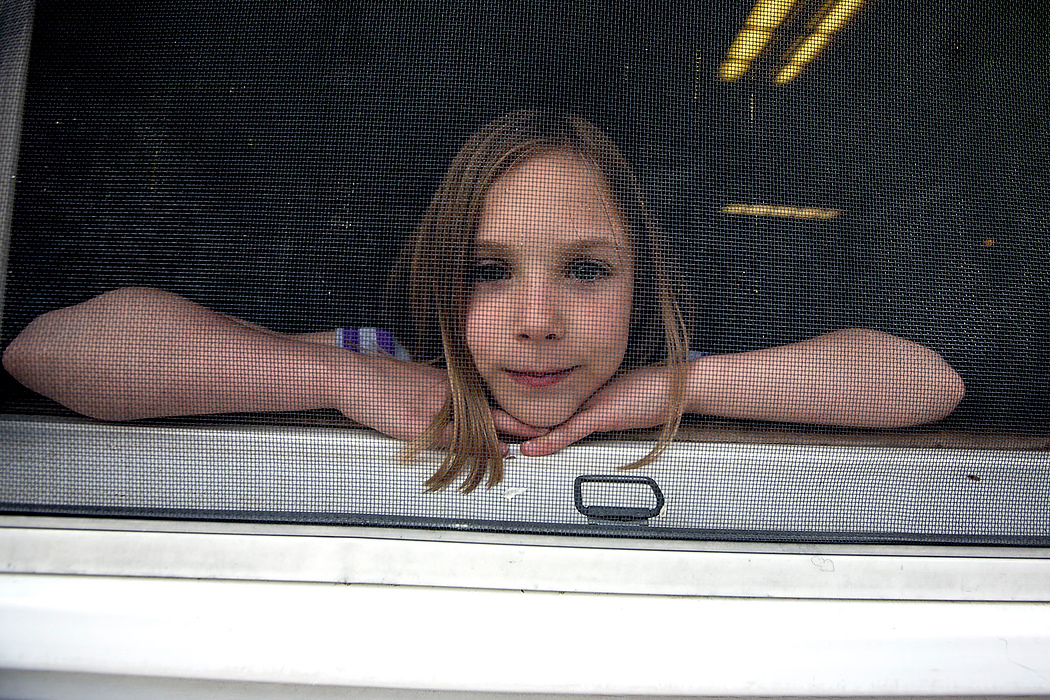
M663 425L671 406L667 368L638 367L617 377L584 402L580 410L547 434L521 446L522 454L556 452L592 432Z

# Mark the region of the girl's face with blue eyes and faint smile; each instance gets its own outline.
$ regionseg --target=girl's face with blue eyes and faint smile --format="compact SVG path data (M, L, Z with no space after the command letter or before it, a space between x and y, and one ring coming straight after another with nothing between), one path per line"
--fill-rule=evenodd
M567 153L530 158L485 194L466 341L500 406L552 427L627 352L634 270L601 176Z

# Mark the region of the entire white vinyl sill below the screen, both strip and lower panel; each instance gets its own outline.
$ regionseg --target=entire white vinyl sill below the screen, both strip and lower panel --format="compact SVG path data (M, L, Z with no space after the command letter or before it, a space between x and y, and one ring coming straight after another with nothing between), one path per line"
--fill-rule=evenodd
M32 697L1050 693L1046 550L7 516L0 560Z

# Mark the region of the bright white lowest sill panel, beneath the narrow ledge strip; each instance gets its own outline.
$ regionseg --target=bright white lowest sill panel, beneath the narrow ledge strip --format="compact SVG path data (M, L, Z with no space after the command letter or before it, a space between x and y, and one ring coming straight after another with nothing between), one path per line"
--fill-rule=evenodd
M0 574L0 691L52 690L32 697L90 697L54 692L80 674L139 697L173 679L225 688L195 697L1050 693L1046 603Z

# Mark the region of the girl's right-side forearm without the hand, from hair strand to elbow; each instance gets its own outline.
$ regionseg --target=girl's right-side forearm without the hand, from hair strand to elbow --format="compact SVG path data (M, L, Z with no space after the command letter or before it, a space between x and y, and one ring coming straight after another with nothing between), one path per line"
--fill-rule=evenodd
M966 393L933 351L866 328L689 363L688 412L897 428L938 421Z

